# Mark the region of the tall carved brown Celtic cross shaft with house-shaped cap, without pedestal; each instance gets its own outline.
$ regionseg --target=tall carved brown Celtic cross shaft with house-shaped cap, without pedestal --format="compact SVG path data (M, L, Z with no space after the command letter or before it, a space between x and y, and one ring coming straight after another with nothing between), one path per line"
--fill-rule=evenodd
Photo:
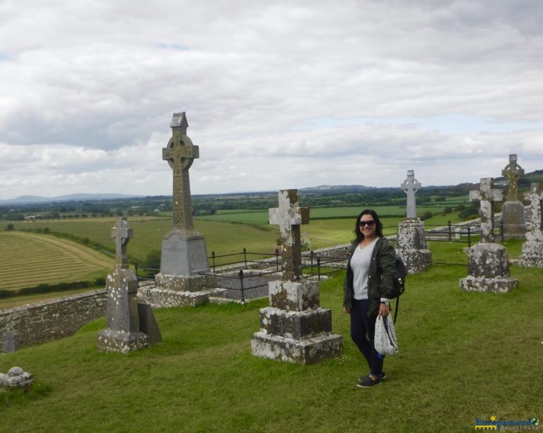
M172 138L162 149L162 158L173 168L173 228L192 231L189 168L199 158L199 148L187 137L185 112L174 113L170 127Z

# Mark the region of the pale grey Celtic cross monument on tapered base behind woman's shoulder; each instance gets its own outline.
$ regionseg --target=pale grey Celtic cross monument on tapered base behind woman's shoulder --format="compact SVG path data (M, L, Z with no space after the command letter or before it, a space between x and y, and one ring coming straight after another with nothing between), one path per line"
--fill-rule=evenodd
M415 194L421 184L415 179L414 171L407 171L402 190L407 194L406 217L398 224L396 253L404 261L409 274L418 274L430 265L432 253L424 236L424 223L416 217Z

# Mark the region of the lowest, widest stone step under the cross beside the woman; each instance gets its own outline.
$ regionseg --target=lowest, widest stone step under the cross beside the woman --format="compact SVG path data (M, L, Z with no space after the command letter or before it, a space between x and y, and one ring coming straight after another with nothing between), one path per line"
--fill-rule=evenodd
M257 357L307 365L334 357L343 350L343 337L324 334L306 340L267 335L262 331L252 335L251 351Z

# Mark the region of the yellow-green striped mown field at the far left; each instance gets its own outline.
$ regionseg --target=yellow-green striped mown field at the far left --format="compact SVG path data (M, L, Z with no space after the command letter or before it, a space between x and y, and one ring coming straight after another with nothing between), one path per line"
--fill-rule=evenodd
M0 231L0 257L2 290L103 277L115 264L77 243L16 231Z

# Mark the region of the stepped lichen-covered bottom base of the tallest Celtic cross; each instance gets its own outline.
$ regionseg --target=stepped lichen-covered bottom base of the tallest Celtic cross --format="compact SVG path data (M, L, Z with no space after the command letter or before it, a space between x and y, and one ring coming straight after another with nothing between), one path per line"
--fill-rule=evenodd
M138 297L154 308L197 306L209 301L209 296L221 296L213 275L155 275L156 284L140 287Z

